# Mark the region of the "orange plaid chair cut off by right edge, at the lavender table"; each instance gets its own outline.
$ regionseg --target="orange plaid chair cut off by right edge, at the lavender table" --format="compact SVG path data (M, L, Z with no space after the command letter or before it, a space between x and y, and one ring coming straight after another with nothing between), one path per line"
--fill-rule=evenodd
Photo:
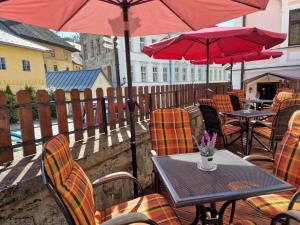
M247 199L251 206L270 218L287 210L300 211L300 110L292 115L281 145L274 160L257 155L245 157L251 162L273 162L273 174L296 188L296 192L286 191Z

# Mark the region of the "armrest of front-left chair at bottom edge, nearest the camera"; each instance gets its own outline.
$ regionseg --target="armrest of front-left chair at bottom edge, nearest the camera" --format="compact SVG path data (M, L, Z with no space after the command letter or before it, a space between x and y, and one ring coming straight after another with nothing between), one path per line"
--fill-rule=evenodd
M124 214L118 217L115 217L113 219L107 220L101 225L127 225L132 223L145 223L150 225L157 225L156 222L149 219L147 216L145 216L142 213L128 213Z

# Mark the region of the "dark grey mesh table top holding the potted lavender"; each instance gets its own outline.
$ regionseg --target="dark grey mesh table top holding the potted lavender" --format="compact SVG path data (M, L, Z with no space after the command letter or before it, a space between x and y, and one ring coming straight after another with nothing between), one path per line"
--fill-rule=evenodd
M199 153L152 157L176 207L239 200L262 194L292 190L293 187L254 164L227 151L218 150L218 168L197 168Z

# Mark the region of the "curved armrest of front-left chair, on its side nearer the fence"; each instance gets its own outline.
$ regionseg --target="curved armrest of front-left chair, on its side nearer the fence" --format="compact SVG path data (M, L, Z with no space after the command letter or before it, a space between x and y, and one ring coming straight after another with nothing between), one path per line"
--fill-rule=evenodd
M138 191L139 191L139 196L141 196L143 194L143 187L142 185L139 183L139 181L133 177L130 173L127 172L116 172L116 173L111 173L108 174L104 177L98 178L97 180L95 180L93 182L93 186L99 186L99 185L103 185L103 184L107 184L116 180L121 180L121 179L127 179L127 180L131 180L133 183L135 183L138 187Z

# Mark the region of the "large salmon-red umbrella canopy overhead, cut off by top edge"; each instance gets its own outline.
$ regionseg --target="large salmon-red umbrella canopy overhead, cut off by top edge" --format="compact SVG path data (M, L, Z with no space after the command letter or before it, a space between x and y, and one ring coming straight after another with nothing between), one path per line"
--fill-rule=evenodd
M132 36L198 30L266 8L268 0L0 0L0 18L58 31Z

